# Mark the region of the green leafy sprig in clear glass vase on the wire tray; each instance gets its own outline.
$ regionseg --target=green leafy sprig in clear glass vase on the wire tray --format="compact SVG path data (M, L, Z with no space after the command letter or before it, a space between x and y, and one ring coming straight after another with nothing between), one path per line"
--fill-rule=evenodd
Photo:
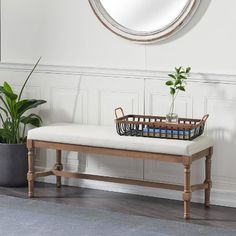
M175 71L168 75L170 78L166 82L166 85L169 87L171 95L170 109L166 115L166 122L168 123L178 123L178 114L174 112L175 100L179 91L185 92L186 80L189 78L190 71L191 67L187 67L186 69L179 67L175 68Z

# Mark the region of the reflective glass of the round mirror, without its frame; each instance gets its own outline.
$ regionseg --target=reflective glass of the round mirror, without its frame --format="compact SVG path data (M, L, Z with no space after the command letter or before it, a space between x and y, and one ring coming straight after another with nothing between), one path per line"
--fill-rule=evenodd
M188 0L100 0L106 12L123 27L138 32L166 28L181 15Z

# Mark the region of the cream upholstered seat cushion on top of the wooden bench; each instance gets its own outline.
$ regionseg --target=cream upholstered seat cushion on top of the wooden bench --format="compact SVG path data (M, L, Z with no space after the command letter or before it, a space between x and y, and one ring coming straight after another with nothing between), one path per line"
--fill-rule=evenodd
M114 126L59 123L28 132L28 139L93 147L191 156L213 146L207 136L193 141L120 136Z

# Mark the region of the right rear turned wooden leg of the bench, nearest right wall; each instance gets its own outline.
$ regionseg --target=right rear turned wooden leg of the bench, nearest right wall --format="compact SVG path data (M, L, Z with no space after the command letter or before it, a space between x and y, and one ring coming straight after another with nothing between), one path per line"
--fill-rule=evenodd
M212 148L210 149L210 154L206 156L205 161L205 183L207 184L207 189L205 189L205 207L210 207L210 193L212 187L211 181L211 157L212 157Z

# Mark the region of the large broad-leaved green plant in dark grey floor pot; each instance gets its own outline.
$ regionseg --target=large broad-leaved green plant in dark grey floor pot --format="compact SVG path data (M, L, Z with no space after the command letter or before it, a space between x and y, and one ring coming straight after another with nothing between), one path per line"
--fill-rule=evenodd
M0 185L22 186L27 183L28 170L26 128L38 127L42 120L32 108L45 103L44 100L22 99L24 88L40 59L26 78L19 94L4 82L0 86Z

